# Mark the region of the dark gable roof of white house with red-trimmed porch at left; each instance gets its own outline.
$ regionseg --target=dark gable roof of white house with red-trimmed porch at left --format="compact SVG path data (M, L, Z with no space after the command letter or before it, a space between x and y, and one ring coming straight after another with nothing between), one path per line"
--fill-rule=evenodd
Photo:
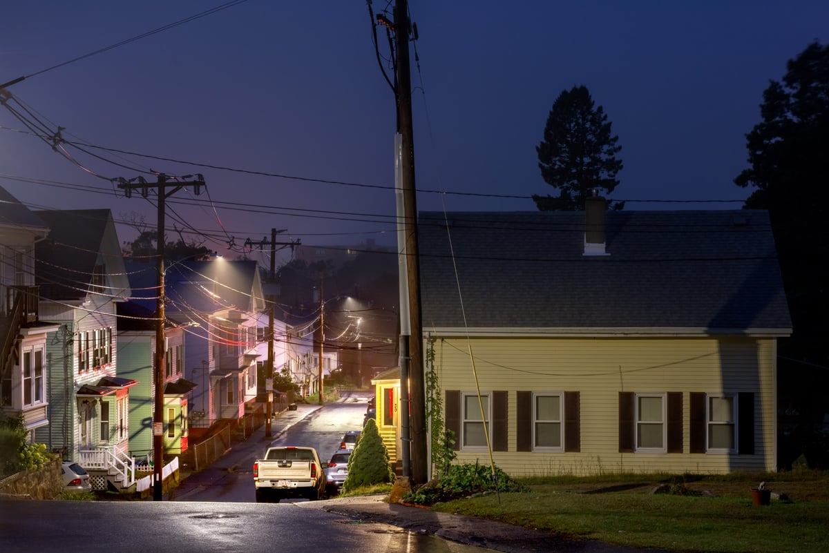
M36 214L50 228L49 239L35 248L35 277L41 296L83 301L98 265L105 266L110 288L104 294L128 295L124 258L109 209L45 210Z

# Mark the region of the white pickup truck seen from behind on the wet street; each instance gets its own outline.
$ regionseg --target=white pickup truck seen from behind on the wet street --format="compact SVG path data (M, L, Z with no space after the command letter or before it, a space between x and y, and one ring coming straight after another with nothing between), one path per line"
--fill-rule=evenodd
M254 485L257 503L279 503L287 497L311 501L323 498L325 474L317 450L288 445L269 447L264 459L254 463Z

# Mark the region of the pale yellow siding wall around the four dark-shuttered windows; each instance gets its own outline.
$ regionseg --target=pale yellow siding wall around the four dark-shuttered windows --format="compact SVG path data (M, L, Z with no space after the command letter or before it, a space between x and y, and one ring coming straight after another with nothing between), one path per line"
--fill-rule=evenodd
M467 339L452 338L435 343L434 367L443 390L474 392L477 377L482 391L508 391L507 451L493 452L508 474L773 471L774 344L754 338L473 338L473 373ZM580 452L516 451L518 390L580 392ZM682 392L682 453L620 453L619 392ZM754 454L691 454L690 392L754 392ZM458 451L458 462L476 461L488 462L487 454Z

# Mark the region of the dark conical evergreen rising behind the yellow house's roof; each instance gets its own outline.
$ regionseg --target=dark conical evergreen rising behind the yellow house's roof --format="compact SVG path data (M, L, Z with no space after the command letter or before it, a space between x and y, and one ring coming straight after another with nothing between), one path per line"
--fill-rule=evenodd
M559 94L547 117L544 139L536 147L541 176L559 189L559 195L533 195L538 209L577 211L584 209L591 190L612 193L623 167L616 158L622 150L617 142L604 108L594 107L587 87L574 86ZM622 209L624 202L608 206Z

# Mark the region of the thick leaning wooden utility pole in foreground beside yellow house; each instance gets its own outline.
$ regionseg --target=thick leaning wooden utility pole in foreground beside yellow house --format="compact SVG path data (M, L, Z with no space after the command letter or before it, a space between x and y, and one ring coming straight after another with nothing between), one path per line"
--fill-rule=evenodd
M414 127L412 124L409 64L409 8L406 0L395 3L395 50L397 55L397 118L401 136L401 172L405 207L406 270L409 281L409 411L411 475L425 483L429 474L426 448L426 401L423 370L423 324L420 316L420 264L417 230L417 196L414 187ZM406 398L403 398L404 401Z

